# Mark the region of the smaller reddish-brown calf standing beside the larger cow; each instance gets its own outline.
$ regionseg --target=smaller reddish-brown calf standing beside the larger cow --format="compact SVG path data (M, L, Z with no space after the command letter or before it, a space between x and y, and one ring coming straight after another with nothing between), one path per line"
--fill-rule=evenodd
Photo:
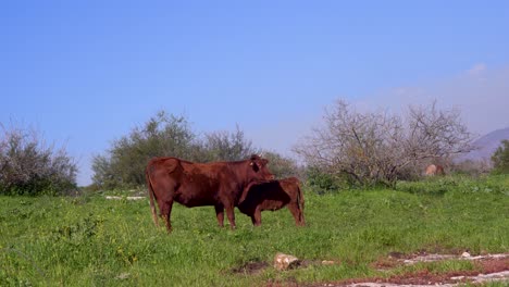
M306 225L303 217L303 195L299 179L289 177L281 180L252 182L238 201L238 210L251 217L253 225L261 224L263 210L280 210L285 205L294 215L296 225Z

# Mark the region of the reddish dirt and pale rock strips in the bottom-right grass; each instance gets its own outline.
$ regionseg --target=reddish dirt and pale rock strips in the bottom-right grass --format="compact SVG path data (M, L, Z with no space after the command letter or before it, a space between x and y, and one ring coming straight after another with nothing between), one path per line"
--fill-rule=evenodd
M388 275L396 267L411 265L418 262L427 264L436 261L448 260L470 260L473 262L473 269L468 271L451 271L437 273L427 269L407 272L404 274ZM326 261L328 263L328 261ZM331 261L334 262L334 261ZM309 265L324 265L321 261L302 260L298 267L307 267ZM334 262L334 264L342 264ZM241 264L238 267L232 269L234 274L256 275L270 266L263 261L251 261ZM468 253L461 255L452 254L425 254L419 252L415 254L402 254L392 252L387 258L382 258L372 264L372 267L387 272L387 276L371 277L371 278L352 278L340 282L306 284L305 286L326 286L326 287L426 287L438 285L442 287L454 287L461 284L483 284L489 280L508 282L509 283L509 253L504 254L485 254L471 257ZM297 280L287 278L284 282L268 282L266 286L300 286Z

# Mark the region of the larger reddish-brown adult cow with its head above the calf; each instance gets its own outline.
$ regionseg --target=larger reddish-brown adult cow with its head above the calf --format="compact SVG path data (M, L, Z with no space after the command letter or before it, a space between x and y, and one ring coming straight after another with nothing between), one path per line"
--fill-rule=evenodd
M223 226L226 209L229 226L235 228L234 207L244 188L252 180L274 178L266 167L268 163L259 155L244 161L211 163L194 163L176 158L150 160L145 174L153 222L159 226L156 199L167 232L172 230L170 215L173 201L188 208L214 205L220 226Z

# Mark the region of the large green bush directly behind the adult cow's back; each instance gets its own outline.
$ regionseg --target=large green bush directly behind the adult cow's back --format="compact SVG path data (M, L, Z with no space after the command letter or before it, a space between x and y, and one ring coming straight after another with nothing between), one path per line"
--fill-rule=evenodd
M194 162L245 160L256 150L238 128L199 138L184 116L161 111L129 135L113 141L105 154L92 160L94 187L114 189L145 185L145 167L151 158L175 157Z

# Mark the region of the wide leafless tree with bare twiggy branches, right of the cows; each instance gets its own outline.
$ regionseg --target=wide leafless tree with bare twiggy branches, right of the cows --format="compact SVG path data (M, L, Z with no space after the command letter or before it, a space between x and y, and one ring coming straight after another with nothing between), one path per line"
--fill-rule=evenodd
M393 186L409 164L471 150L471 134L459 115L439 111L433 102L410 107L402 118L387 112L357 112L338 100L325 110L324 125L294 151L327 174L347 174L361 185Z

